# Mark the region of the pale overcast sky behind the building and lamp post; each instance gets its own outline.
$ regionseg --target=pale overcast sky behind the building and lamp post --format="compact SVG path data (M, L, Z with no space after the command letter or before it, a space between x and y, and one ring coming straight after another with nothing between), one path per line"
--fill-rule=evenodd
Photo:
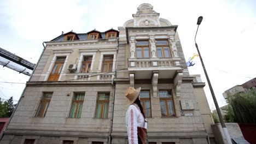
M118 29L136 14L142 3L152 4L160 17L178 25L178 34L186 60L197 53L194 37L197 17L203 21L197 44L220 106L222 93L256 77L256 1L70 1L70 0L0 0L0 47L37 63L43 41L73 30L87 33ZM200 74L206 82L200 59L189 67L190 74ZM28 76L0 68L0 97L13 96L18 101ZM214 104L208 85L206 96Z

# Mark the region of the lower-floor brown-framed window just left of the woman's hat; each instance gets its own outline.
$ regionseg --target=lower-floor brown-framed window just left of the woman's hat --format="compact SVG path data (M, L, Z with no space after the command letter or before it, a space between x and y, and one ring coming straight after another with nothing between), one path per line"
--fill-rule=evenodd
M108 118L109 95L110 92L98 92L96 118Z

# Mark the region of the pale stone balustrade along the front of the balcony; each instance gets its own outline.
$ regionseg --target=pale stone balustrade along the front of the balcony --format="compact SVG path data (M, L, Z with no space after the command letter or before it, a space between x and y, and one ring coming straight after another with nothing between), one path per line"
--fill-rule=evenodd
M174 67L179 66L181 58L130 58L129 67Z

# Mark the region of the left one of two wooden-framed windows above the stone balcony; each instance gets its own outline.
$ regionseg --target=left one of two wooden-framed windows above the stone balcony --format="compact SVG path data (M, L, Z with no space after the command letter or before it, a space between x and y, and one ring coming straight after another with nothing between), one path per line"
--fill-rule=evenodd
M137 41L136 49L137 58L149 58L148 41Z

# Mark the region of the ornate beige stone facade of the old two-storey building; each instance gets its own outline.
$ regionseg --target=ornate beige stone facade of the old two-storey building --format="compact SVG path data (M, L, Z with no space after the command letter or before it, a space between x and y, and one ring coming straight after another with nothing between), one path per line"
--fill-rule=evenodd
M208 135L214 143L211 129L214 122L203 91L205 83L200 75L189 74L177 27L159 18L152 5L141 4L133 19L118 27L117 38L99 33L102 38L87 39L89 33L85 37L71 32L76 40L65 40L69 38L62 34L46 42L0 143L25 143L30 139L34 143L56 144L67 141L127 143L125 113L128 105L124 93L130 86L149 92L149 142L207 143ZM158 41L161 40L167 41L167 46L160 49ZM148 46L140 49L138 41L148 41ZM144 50L142 57L138 49ZM160 52L165 54L160 55ZM87 56L91 57L90 71L82 73L83 59ZM106 56L113 57L112 65L108 63L108 70L112 70L107 72L103 70ZM58 58L64 58L61 68L56 66ZM71 64L75 65L74 71L69 68ZM49 81L55 67L60 73L57 80ZM163 116L164 108L160 103L161 89L170 91L173 101L167 104L170 109L167 116ZM52 94L49 105L44 108L44 116L38 117L40 101L44 93L49 92ZM79 108L82 112L79 118L71 118L76 92L85 92L79 102L83 104ZM107 117L104 118L96 118L99 92L109 92L108 110L104 112ZM181 106L183 101L187 108ZM170 115L171 109L173 115Z

